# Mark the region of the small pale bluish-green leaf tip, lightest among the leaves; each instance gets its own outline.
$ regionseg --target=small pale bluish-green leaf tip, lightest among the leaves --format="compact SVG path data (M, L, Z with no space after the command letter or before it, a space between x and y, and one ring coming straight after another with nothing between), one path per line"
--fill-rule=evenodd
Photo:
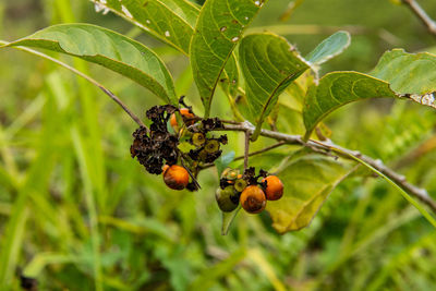
M305 59L314 65L319 65L340 54L350 46L350 41L348 32L337 32L324 39Z

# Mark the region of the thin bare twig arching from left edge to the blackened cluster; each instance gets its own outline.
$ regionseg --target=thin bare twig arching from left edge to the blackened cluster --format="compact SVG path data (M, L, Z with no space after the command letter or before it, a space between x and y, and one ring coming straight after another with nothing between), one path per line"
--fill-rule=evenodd
M0 44L1 45L8 45L8 43L2 41L2 40L0 40ZM100 83L98 83L97 81L95 81L90 76L88 76L88 75L82 73L81 71L74 69L73 66L71 66L71 65L69 65L69 64L66 64L64 62L61 62L61 61L59 61L59 60L57 60L55 58L51 58L50 56L47 56L47 54L45 54L43 52L33 50L33 49L29 49L29 48L25 48L25 47L13 47L13 48L29 52L32 54L35 54L35 56L41 57L44 59L47 59L49 61L52 61L52 62L55 62L57 64L60 64L63 68L70 70L71 72L75 73L76 75L80 75L81 77L85 78L86 81L88 81L93 85L95 85L98 88L100 88L106 95L108 95L113 101L116 101L140 126L145 128L147 130L147 132L149 131L148 128L144 124L144 122L142 122L142 120L135 113L133 113L128 108L128 106L123 101L120 100L120 98L118 98L112 92L110 92L109 89L105 88L105 86L102 86Z

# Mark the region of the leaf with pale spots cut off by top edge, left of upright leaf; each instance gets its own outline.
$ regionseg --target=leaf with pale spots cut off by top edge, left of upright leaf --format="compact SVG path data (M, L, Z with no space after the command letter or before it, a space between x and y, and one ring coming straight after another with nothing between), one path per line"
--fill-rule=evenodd
M92 1L98 9L109 9L183 53L189 53L199 13L194 3L185 0Z

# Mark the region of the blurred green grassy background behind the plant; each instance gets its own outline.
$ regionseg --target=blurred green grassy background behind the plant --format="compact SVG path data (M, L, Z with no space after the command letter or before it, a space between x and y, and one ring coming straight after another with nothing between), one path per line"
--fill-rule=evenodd
M436 17L435 1L420 3ZM338 29L352 34L350 48L322 73L367 72L397 47L436 51L436 38L388 0L305 0L280 21L288 4L269 1L251 29L284 35L303 56ZM3 40L71 22L154 48L177 92L202 111L186 57L111 13L96 13L90 1L0 2ZM159 102L104 68L52 56L100 81L142 118ZM349 178L302 231L279 235L268 214L241 211L222 237L215 169L201 173L197 193L169 191L130 157L135 124L98 88L25 52L2 49L0 63L0 284L8 282L0 290L20 290L21 272L40 290L95 290L95 272L105 290L435 290L436 232L386 182ZM213 113L230 119L217 94ZM344 107L327 124L335 142L383 159L436 198L434 111L370 100ZM225 154L240 155L243 136L229 140ZM270 167L272 154L263 157Z

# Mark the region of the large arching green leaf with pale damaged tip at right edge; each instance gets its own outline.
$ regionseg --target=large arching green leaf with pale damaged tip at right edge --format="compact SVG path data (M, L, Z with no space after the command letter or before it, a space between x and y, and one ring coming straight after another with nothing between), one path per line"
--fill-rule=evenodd
M402 97L436 108L436 56L386 52L370 74L332 72L307 92L303 109L305 138L316 124L335 109L365 98Z

